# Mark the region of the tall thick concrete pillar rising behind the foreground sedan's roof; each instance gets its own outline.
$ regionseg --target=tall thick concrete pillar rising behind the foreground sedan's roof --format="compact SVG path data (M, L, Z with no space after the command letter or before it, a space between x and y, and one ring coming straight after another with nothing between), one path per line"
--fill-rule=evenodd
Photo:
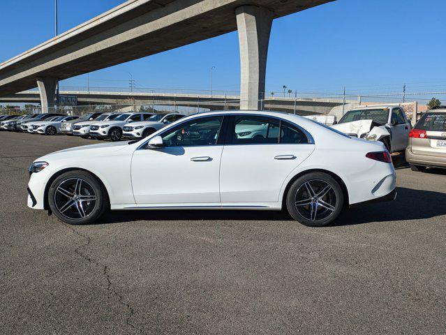
M265 75L272 13L258 6L235 10L240 45L240 109L261 110L265 98Z

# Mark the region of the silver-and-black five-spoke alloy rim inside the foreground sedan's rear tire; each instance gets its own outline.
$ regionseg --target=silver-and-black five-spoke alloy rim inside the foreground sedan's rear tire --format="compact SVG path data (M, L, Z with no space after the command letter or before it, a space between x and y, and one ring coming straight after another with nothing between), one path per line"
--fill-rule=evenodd
M325 220L336 210L336 192L327 181L311 179L295 193L295 209L310 221Z

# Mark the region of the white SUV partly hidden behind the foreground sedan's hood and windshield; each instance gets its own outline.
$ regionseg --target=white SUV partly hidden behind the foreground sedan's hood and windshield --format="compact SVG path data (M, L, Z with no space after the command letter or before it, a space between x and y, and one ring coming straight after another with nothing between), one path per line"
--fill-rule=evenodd
M141 122L132 122L124 126L124 133L122 136L127 138L142 138L147 137L168 124L177 121L186 115L184 114L154 114L149 119Z

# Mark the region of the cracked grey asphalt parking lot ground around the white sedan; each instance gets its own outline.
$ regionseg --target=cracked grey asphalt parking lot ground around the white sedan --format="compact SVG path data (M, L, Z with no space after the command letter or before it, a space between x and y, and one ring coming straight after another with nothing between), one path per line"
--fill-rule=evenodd
M1 334L445 333L446 170L396 157L397 200L327 228L251 211L70 226L26 206L35 158L96 142L0 133Z

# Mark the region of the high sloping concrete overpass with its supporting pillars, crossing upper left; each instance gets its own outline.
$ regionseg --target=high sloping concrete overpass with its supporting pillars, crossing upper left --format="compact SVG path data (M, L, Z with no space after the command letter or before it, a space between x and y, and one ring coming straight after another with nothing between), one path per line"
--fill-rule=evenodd
M334 0L128 0L0 64L0 96L38 86L43 109L57 80L239 31L241 108L260 107L276 17Z

